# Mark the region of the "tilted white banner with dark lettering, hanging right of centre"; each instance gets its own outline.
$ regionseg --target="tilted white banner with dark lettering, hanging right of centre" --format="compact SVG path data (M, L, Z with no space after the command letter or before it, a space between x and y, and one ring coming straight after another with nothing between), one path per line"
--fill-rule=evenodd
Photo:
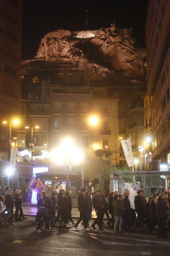
M130 143L130 138L125 140L120 140L123 148L124 155L126 157L127 165L133 167L133 157L132 157L132 147Z

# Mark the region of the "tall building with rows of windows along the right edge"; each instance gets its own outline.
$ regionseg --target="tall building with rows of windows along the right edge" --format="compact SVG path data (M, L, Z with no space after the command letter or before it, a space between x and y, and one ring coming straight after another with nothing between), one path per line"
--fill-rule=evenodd
M149 1L146 20L147 92L153 97L153 167L170 164L170 1Z

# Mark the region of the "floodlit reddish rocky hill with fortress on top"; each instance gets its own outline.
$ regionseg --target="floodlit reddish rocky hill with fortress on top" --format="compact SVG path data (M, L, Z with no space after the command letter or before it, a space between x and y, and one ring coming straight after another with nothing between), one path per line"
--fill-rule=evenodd
M129 29L110 27L93 31L57 30L41 39L33 60L23 61L22 72L88 71L90 80L116 76L143 80L146 51Z

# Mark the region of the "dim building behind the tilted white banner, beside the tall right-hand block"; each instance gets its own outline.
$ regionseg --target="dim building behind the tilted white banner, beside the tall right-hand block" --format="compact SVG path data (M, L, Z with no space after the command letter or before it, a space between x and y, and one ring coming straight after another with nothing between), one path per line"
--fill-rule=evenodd
M119 136L122 138L131 137L132 151L134 157L134 169L143 170L144 158L143 151L140 153L140 148L143 148L143 95L145 90L131 89L131 93L126 91L126 100L120 97L118 105L119 117ZM119 142L119 166L127 165L124 157L123 148ZM135 166L137 162L137 166Z

